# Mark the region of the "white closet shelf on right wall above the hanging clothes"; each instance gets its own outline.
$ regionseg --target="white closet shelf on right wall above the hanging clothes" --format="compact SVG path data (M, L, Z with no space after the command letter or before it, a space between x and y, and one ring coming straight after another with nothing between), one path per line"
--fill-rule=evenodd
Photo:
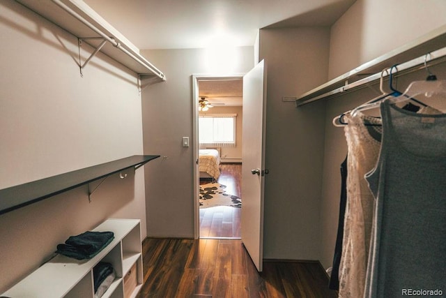
M362 64L361 66L348 71L348 73L344 73L344 75L340 75L300 96L296 96L296 106L298 107L315 100L328 98L329 96L339 94L346 89L351 89L351 87L343 88L348 84L353 83L354 87L359 87L360 84L378 81L380 75L377 74L380 74L384 68L390 68L394 64L402 64L406 61L417 59L417 57L442 49L443 47L446 47L446 25L431 31L406 45L387 52L376 59ZM366 80L367 76L370 76L371 80ZM354 84L355 82L358 82L358 84Z

